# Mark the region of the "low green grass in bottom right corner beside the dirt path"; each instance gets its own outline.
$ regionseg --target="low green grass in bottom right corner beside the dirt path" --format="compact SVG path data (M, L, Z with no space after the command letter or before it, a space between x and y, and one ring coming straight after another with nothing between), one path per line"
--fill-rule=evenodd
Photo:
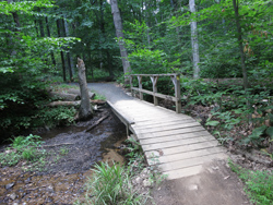
M245 191L257 205L273 205L273 173L270 171L250 171L229 161L234 172L245 182Z

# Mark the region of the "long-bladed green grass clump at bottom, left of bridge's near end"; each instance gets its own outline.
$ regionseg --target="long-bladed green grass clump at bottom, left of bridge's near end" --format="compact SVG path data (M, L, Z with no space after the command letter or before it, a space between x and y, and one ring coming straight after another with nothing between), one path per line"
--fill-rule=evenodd
M129 169L118 164L112 167L107 162L96 165L86 184L85 204L141 205L145 200L133 191Z

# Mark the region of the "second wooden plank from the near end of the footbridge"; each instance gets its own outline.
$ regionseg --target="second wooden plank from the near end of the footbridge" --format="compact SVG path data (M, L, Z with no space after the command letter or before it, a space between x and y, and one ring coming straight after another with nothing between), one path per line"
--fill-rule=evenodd
M195 157L195 158L190 158L190 159L182 159L179 161L162 164L158 166L158 168L163 171L170 171L170 170L181 169L186 167L202 165L204 162L212 161L213 159L216 159L216 158L226 159L227 155L221 153L221 154L212 154L212 155L206 155L206 156Z

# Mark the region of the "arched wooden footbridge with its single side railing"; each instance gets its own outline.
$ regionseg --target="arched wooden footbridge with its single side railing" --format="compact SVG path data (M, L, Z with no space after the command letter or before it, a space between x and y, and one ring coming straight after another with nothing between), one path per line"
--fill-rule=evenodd
M174 83L175 96L157 93L157 80L168 76ZM132 86L133 77L139 87ZM142 79L151 77L153 91L142 88ZM199 173L202 165L213 159L225 159L226 150L218 145L199 122L181 112L180 80L177 74L130 75L131 94L140 99L108 100L114 112L138 138L150 165L158 167L167 179ZM143 93L154 98L154 105L143 101ZM158 98L175 101L176 111L158 107Z

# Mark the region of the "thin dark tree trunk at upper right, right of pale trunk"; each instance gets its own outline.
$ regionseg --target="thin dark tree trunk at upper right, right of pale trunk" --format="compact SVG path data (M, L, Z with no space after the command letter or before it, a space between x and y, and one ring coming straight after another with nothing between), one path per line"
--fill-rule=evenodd
M236 19L236 26L237 26L237 36L238 36L238 46L240 50L240 62L241 62L241 71L244 76L244 87L245 91L248 88L248 74L245 64L245 53L244 53L244 46L242 46L242 37L241 37L241 26L239 20L239 0L233 0L234 11L235 11L235 19Z

